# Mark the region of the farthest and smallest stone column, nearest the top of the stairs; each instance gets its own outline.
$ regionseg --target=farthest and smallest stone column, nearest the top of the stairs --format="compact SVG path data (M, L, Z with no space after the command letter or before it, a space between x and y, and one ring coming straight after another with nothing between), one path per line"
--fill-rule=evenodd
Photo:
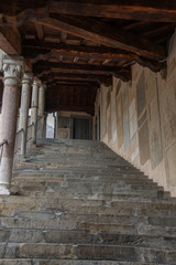
M40 119L40 131L38 131L38 137L43 138L44 137L44 110L45 110L45 91L46 86L41 85L40 86L40 93L38 93L38 117Z

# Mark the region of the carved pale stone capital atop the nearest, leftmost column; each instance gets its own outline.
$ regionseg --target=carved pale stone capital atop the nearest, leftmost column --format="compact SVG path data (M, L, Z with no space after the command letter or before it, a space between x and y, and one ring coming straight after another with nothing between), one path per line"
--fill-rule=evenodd
M23 57L6 55L2 63L4 74L3 82L11 80L15 85L19 85L24 71Z

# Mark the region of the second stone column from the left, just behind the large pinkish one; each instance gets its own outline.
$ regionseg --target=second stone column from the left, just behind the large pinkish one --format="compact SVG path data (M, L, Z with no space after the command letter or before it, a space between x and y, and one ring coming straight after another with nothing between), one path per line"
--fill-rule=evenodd
M21 141L22 156L26 155L26 134L28 134L29 108L30 108L32 82L33 82L32 73L25 73L22 80L20 125L19 125L19 129L23 129L23 137Z

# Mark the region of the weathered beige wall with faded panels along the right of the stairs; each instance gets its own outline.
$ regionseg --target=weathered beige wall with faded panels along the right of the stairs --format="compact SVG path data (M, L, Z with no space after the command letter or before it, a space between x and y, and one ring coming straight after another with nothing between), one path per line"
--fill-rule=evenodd
M135 64L131 82L101 85L99 106L101 140L176 195L176 38L167 72Z

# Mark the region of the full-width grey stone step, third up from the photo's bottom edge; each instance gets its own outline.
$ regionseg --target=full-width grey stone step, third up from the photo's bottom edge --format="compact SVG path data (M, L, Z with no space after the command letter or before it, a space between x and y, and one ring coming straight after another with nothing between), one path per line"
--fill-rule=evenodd
M97 232L80 230L36 230L9 229L0 231L0 242L9 243L63 243L63 244L99 244L128 245L141 247L160 246L175 251L176 237L163 235L140 235L116 232Z

